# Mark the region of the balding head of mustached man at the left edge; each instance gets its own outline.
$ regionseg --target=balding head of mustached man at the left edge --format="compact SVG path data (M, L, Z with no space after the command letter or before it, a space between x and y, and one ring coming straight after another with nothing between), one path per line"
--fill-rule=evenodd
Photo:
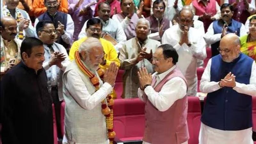
M1 35L5 40L12 40L17 35L17 22L12 17L1 18Z

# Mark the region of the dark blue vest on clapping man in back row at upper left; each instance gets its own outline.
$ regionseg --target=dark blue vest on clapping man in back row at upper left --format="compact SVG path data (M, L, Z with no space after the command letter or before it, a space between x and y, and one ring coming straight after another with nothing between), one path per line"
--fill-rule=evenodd
M60 21L64 25L64 29L66 30L67 17L68 17L67 13L57 11L57 13L54 16L51 16L48 12L44 12L37 19L39 21L50 20L50 21L52 21L54 23L55 28L58 28L58 25L59 25L58 21ZM66 49L69 48L69 44L65 43L62 40L61 36L56 41L56 43L63 45Z

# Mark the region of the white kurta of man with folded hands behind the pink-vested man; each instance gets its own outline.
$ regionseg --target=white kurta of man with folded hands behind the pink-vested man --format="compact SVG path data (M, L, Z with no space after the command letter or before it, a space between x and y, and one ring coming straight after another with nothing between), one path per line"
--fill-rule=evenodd
M162 44L171 44L179 54L177 66L188 82L188 96L196 96L197 93L197 59L206 58L205 41L201 32L195 28L189 28L188 41L191 46L179 44L182 31L179 25L168 28L162 37Z

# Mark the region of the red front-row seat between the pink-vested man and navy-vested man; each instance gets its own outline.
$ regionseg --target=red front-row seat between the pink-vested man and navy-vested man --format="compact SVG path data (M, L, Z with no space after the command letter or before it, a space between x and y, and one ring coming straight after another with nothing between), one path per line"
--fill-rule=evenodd
M198 136L201 124L201 106L198 97L188 97L188 144L198 144Z

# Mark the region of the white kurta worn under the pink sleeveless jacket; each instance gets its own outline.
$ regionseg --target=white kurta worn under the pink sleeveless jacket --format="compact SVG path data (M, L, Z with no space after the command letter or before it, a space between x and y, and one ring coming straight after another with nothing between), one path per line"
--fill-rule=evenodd
M184 98L187 91L187 85L185 81L181 77L173 77L171 80L166 82L160 92L156 92L154 88L158 83L160 83L166 75L168 75L174 68L176 68L176 65L172 68L168 69L164 73L157 74L154 73L152 77L156 76L156 84L152 86L147 86L144 90L145 94L148 97L148 100L159 110L159 111L166 111L168 110L172 104L179 99ZM170 91L170 88L172 90ZM143 98L144 93L140 88L138 90L138 96L142 101L145 101L145 98ZM142 144L150 144L148 142L143 141ZM182 143L182 144L188 144L188 141Z

